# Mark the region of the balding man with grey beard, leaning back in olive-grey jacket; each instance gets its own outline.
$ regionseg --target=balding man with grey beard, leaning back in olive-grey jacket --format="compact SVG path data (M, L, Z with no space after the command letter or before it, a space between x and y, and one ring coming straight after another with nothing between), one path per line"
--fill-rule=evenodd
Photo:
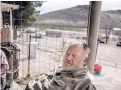
M88 77L86 60L90 49L86 44L72 44L63 59L63 70L51 80L36 80L26 90L96 90Z

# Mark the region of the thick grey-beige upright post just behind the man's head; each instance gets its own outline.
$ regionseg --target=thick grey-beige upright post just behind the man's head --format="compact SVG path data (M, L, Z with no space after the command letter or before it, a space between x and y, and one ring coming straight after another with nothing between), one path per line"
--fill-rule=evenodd
M90 1L89 5L87 44L91 49L91 53L89 55L87 64L88 64L88 69L91 73L93 73L93 67L96 61L101 4L102 1Z

